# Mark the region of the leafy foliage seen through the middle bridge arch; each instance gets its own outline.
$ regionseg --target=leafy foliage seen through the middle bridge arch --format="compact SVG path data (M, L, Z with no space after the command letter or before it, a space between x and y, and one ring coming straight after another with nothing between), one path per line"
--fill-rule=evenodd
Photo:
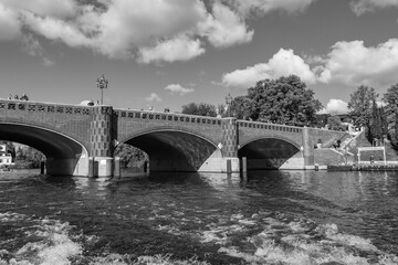
M140 167L145 160L149 160L143 150L126 144L117 146L115 157L121 158L122 168Z

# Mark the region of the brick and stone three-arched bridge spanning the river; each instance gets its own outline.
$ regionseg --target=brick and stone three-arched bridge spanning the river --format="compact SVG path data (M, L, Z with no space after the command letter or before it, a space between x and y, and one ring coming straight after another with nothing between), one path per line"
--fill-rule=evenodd
M0 140L42 151L55 176L90 176L92 165L95 176L112 176L121 144L148 153L151 171L239 171L242 158L248 169L311 169L316 142L345 137L234 118L0 99Z

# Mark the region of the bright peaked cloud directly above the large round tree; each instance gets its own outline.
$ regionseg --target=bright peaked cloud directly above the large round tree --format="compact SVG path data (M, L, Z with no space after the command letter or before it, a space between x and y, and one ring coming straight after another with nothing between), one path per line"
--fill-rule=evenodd
M310 84L316 82L315 74L301 56L295 55L293 50L281 49L268 63L260 63L244 70L237 70L223 74L222 84L226 86L248 88L260 80L279 78L292 74L300 76L304 82Z

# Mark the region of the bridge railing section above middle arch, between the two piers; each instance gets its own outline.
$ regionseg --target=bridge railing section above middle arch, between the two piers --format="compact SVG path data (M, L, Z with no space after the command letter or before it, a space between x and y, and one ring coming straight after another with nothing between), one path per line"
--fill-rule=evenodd
M191 124L207 124L207 125L221 125L221 118L209 116L196 116L176 113L160 113L150 110L136 110L136 109L114 109L114 115L119 118L135 118L135 119L153 119L153 120L168 120L177 123L191 123Z

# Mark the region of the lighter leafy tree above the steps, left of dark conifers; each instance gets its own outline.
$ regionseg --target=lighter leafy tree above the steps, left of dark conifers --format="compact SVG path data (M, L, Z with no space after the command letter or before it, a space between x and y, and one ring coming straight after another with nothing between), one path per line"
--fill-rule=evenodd
M370 128L373 103L376 102L377 97L375 88L363 85L350 94L348 109L355 126L364 126L367 130Z

